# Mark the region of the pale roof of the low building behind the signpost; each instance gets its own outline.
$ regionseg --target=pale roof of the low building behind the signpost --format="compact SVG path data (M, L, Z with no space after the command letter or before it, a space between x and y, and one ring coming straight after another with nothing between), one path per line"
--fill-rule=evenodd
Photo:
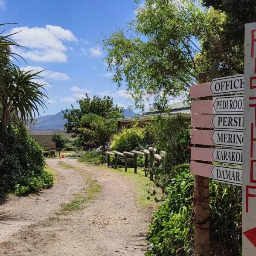
M136 117L126 117L126 118L120 118L118 121L120 122L130 122L136 118L137 120L148 120L153 116L170 116L170 115L180 115L184 116L186 118L191 117L191 111L190 111L190 105L187 101L181 101L181 102L176 102L171 105L169 105L170 114L167 113L160 113L159 111L151 111L151 112L146 112L144 115L136 116Z

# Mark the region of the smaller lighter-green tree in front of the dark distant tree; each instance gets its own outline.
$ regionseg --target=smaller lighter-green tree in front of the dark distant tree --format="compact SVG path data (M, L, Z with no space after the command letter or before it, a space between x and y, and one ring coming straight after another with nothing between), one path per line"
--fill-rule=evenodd
M81 118L81 127L79 131L90 140L99 142L102 145L102 151L105 152L109 138L117 130L117 118L122 117L119 111L111 111L106 117L89 113ZM89 125L89 128L87 126Z

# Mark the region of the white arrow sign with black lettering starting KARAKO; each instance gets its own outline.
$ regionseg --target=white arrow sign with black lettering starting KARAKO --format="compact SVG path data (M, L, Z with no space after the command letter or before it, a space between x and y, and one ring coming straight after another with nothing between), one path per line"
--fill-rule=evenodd
M214 148L212 157L215 162L242 164L243 150L239 148Z

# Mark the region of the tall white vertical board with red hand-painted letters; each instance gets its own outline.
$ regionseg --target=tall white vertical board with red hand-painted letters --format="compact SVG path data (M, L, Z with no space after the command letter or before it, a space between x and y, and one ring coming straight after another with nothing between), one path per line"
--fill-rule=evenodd
M256 23L245 24L243 256L256 255Z

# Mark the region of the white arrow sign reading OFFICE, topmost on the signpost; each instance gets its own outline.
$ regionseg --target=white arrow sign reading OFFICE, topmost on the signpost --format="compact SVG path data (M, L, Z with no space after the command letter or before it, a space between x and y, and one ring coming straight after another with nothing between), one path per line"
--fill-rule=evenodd
M213 79L210 89L213 95L243 92L244 75L227 76Z

